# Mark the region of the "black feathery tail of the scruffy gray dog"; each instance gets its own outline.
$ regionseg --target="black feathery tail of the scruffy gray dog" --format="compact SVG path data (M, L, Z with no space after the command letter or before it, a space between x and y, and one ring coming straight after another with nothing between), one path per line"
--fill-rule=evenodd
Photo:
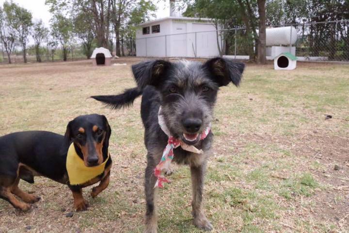
M91 98L103 102L112 109L119 109L122 107L129 107L133 101L142 95L142 90L137 87L126 89L124 93L113 96L91 96Z

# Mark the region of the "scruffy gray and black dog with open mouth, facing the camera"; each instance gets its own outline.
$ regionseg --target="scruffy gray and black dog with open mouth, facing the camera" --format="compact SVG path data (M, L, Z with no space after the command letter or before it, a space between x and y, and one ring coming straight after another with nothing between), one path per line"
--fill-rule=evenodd
M117 109L131 105L133 100L143 95L141 116L145 128L144 142L148 150L144 183L146 233L157 232L158 188L154 188L157 183L154 169L169 139L159 126L158 114L164 119L171 136L203 150L203 153L198 154L177 147L174 149L173 161L190 166L194 224L207 231L213 229L202 209L204 175L213 133L209 132L204 139L199 135L212 121L219 87L230 82L238 86L243 70L244 64L223 58L209 59L204 64L185 60L176 63L146 61L132 66L137 87L116 96L92 97Z

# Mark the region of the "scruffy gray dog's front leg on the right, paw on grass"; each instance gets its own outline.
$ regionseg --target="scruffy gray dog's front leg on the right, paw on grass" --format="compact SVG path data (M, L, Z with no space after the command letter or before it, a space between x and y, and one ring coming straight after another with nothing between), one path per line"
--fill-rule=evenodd
M199 166L190 166L191 185L192 185L192 215L194 217L194 224L200 229L211 231L212 224L206 218L202 210L202 199L204 190L204 175L206 164Z

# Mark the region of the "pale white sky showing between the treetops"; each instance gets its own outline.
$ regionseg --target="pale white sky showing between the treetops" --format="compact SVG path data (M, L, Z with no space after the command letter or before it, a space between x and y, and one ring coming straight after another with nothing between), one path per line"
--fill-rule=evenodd
M2 6L5 0L0 0ZM32 12L33 20L42 19L46 26L49 25L51 14L48 11L48 6L45 5L45 0L13 0L19 6L26 8ZM158 11L155 13L156 18L170 16L170 3L169 0L153 0L154 4L158 7Z

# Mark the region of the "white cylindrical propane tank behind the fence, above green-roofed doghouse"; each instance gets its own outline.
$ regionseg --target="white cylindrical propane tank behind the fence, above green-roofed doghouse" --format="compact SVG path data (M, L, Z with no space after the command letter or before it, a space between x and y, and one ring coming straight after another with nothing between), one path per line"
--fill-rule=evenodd
M297 41L297 29L289 27L267 28L267 46L293 45Z

